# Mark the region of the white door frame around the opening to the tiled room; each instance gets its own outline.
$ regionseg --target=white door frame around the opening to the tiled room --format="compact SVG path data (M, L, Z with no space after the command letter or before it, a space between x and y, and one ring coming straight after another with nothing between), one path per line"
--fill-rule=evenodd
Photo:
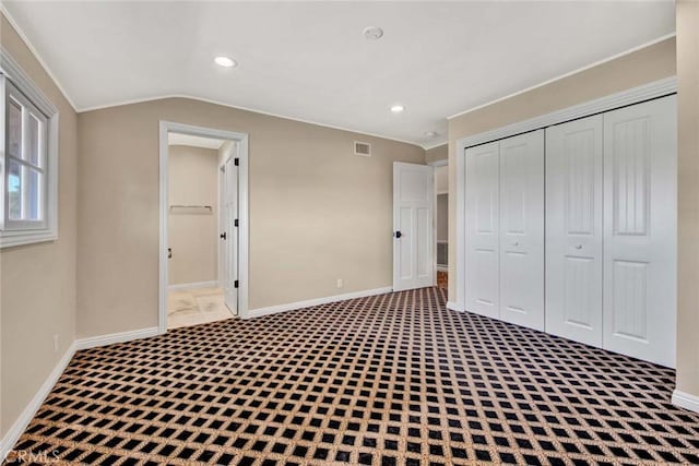
M238 143L238 316L248 316L248 134L173 121L159 121L159 241L158 241L158 333L167 332L167 222L168 222L168 139L170 132Z

